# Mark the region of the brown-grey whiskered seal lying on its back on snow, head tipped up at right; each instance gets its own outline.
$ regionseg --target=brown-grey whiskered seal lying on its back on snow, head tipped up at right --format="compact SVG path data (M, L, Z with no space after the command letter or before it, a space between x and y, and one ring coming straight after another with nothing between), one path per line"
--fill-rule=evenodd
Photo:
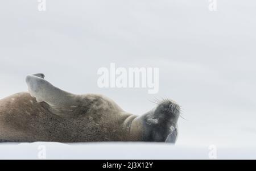
M0 100L1 142L176 141L180 107L174 101L137 116L103 95L63 91L44 74L26 82L29 93Z

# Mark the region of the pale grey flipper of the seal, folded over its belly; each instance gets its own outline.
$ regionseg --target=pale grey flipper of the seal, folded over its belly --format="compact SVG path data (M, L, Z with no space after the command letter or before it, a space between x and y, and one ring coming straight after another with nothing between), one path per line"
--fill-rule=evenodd
M73 99L75 97L74 94L53 86L48 81L44 80L44 74L27 76L26 82L30 95L35 97L38 102L46 102L55 114L59 113L57 111L69 110L70 106L77 105L75 104L77 101Z

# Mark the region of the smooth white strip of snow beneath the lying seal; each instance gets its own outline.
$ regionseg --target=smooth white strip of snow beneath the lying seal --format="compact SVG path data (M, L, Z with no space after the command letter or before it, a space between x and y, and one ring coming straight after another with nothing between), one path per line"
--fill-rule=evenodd
M213 157L211 149L166 143L3 143L0 159L256 159L255 147L216 146Z

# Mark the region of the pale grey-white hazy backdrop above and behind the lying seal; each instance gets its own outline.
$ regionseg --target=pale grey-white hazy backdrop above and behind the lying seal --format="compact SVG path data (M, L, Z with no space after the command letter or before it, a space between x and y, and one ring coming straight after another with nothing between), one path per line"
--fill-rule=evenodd
M0 2L0 98L44 73L61 89L100 93L141 115L168 97L183 109L177 144L256 143L256 2ZM101 89L97 70L158 67L159 93Z

